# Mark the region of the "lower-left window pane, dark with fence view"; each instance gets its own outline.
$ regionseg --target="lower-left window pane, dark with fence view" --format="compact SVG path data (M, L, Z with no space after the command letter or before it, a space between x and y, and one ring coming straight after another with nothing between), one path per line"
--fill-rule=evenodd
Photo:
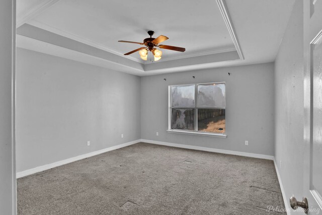
M194 109L171 109L171 129L195 130Z

